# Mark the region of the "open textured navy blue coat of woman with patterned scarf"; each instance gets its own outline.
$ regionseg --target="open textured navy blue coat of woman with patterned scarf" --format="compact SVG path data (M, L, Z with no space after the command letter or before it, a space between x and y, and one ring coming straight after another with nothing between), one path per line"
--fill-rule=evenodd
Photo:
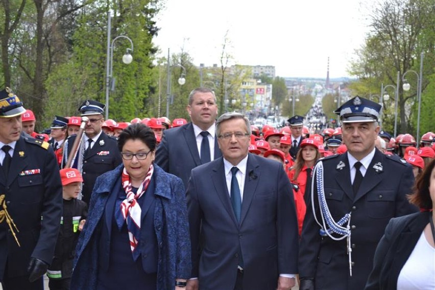
M88 218L79 237L71 290L92 290L98 277L99 240L104 209L109 195L118 194L115 184L121 178L123 165L106 172L95 182ZM159 245L157 288L175 287L176 278L190 278L190 239L185 191L181 180L154 166L155 208L154 231ZM142 217L143 217L142 212ZM139 244L145 244L140 235Z

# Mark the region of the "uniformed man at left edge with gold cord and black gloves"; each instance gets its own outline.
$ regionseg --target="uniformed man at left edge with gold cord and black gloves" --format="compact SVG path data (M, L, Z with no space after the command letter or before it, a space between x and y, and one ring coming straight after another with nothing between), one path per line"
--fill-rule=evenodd
M53 148L21 134L25 111L9 87L0 92L0 281L5 290L43 289L62 213Z

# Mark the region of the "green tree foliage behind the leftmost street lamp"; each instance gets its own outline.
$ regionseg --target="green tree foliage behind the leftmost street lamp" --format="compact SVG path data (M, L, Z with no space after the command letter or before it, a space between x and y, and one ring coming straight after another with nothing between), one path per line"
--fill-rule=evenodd
M85 99L105 103L109 9L113 11L111 42L115 37L125 35L132 39L134 45L133 62L127 65L122 62L122 56L131 47L130 42L123 37L114 42L114 90L110 90L109 94L109 118L130 121L149 114L149 96L157 85L152 82L152 61L156 52L152 37L157 32L152 18L158 7L149 0L123 0L112 6L106 4L103 0L93 1L82 10L79 26L72 36L72 55L47 80L50 96L45 103L47 119L59 114L59 108L62 108L63 115L77 115L77 108Z

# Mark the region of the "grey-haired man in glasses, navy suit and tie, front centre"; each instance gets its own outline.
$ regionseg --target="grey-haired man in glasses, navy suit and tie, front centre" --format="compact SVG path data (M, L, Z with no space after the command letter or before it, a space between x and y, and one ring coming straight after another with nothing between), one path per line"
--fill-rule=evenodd
M248 154L244 115L222 115L216 134L223 157L192 169L187 186L194 277L187 289L290 289L298 225L282 164Z

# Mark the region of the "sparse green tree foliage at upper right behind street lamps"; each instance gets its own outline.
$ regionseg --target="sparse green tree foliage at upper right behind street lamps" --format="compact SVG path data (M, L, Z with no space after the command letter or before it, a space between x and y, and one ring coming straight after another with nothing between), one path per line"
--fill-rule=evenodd
M400 76L406 71L419 71L420 53L424 52L423 85L424 91L429 76L434 72L435 62L435 2L432 0L385 0L375 6L371 13L371 32L366 43L357 51L358 59L351 65L350 73L359 78L352 84L358 95L380 93L383 83L397 85L397 72ZM407 80L414 84L410 93L402 90L399 81L399 129L398 133L415 131L417 79L415 74L407 74ZM390 94L392 95L392 94ZM391 102L391 101L390 101ZM394 112L390 102L384 102L384 125L391 128Z

